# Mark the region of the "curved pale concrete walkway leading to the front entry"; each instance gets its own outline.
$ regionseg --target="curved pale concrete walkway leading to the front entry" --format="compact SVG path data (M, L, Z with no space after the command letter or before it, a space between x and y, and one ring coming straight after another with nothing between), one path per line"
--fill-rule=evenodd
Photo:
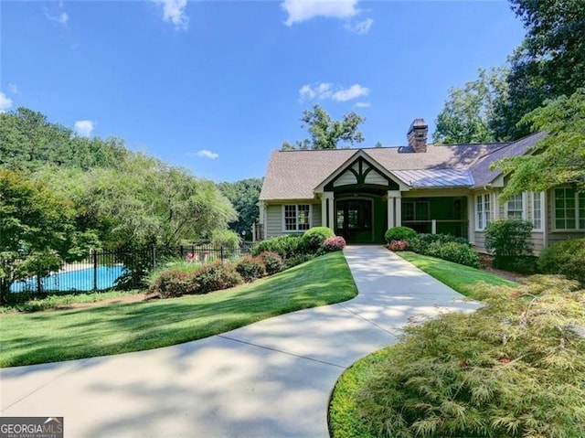
M381 247L345 253L351 301L173 347L0 369L0 415L63 416L76 438L327 437L331 390L357 358L410 318L475 308Z

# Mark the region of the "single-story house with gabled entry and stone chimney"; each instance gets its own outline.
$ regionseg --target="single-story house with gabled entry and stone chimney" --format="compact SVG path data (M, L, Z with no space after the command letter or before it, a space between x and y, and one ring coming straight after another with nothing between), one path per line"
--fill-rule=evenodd
M416 119L408 146L274 151L260 195L258 237L325 226L348 242L384 241L388 228L450 233L484 249L495 219L534 225L535 251L585 237L585 193L556 187L498 200L507 176L490 170L500 158L527 154L545 134L514 143L427 144L428 125Z

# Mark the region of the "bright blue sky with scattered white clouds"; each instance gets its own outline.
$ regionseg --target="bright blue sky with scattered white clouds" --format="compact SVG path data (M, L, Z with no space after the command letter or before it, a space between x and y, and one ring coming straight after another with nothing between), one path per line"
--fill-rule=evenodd
M452 86L505 64L505 1L0 2L0 111L123 138L215 181L262 176L314 103L406 143Z

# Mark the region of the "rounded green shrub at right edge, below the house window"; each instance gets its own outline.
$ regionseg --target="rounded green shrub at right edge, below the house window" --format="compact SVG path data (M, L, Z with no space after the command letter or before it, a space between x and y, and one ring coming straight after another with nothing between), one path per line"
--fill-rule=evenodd
M565 240L540 252L538 269L559 273L585 286L585 239Z

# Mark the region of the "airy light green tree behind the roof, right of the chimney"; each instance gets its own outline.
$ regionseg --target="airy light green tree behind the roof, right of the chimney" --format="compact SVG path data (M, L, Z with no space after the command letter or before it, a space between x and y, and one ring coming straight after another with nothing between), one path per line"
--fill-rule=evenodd
M505 69L479 69L478 79L462 88L452 88L437 116L435 143L489 143L497 140L490 127L495 102L507 95Z

